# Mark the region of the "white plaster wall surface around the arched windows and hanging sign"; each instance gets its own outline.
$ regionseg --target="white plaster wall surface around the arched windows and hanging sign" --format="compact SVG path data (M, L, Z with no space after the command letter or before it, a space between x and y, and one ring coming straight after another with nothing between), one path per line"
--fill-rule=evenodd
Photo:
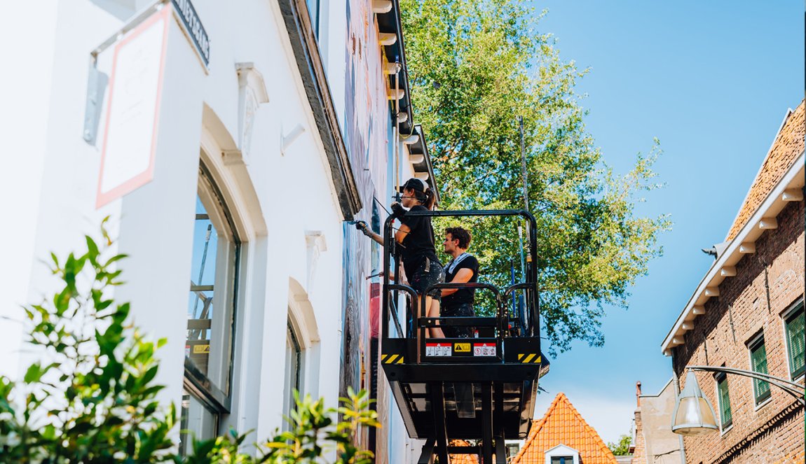
M34 144L31 158L16 165L19 179L30 181L30 195L20 202L24 214L19 228L2 240L20 244L10 256L14 269L24 272L14 281L18 291L3 298L35 301L48 292L54 282L37 264L39 258L50 251L61 254L81 247L83 234L97 234L102 217L113 216L110 228L119 238L118 250L131 255L123 262L128 283L116 290L115 297L131 301L132 314L143 331L155 338L168 337L168 344L159 352L162 362L157 381L168 385L164 400L178 404L203 107L208 105L237 141L235 64L255 63L263 73L270 101L256 113L247 172L266 231L244 234L247 243L242 254L233 414L226 422L241 430L256 429L255 439L263 439L281 424L289 279L307 287L305 294L318 326L318 340L311 344L311 359L318 360L306 365L305 378L312 384L305 388L335 405L339 386L343 217L285 25L276 2L197 0L194 6L211 39L210 73L206 75L172 21L154 180L96 210L101 143L89 146L81 138L89 51L123 23L115 15L120 14L119 5L112 2L118 6L113 14L98 6L104 3L46 2L50 8L45 10L50 14L46 19L51 23L42 23L45 39L37 49L40 61L35 67L44 77L28 86L44 83L44 89L30 106L25 101L18 103L39 115L31 118L27 137L42 142L38 147ZM38 5L39 11L42 4ZM5 8L0 10L5 12ZM0 108L3 121L16 117L12 111ZM297 125L305 132L282 152L283 134ZM232 175L226 168L220 174L225 178ZM12 196L21 195L6 198ZM309 231L322 232L326 241L311 285L305 242ZM3 324L5 331L8 325ZM9 331L19 338L19 329ZM4 344L3 352L8 351L14 350ZM15 364L3 360L0 368L3 372L17 370Z

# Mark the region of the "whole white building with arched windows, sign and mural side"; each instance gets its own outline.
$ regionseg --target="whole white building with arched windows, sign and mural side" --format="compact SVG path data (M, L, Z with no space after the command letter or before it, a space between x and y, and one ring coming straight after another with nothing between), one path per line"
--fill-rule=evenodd
M305 6L0 6L13 70L0 76L0 374L19 378L36 356L18 308L54 289L41 260L110 216L129 255L114 298L168 339L156 382L182 404L182 428L264 439L293 389L332 406L347 386L370 388L380 250L351 221L384 220L378 203L401 179L433 185L433 171L405 95L397 2ZM412 446L380 396L378 462L401 462Z

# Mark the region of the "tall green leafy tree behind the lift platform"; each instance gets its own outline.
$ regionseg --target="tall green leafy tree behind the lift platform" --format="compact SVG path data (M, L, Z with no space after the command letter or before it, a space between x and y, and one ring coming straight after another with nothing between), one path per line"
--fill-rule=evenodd
M627 306L629 286L661 253L658 235L670 223L635 211L640 195L658 187L657 140L626 175L605 164L574 91L587 70L560 59L551 35L538 29L545 12L529 4L401 0L401 10L414 112L428 133L442 209L523 207L516 121L523 117L542 335L556 353L574 339L604 343L605 306ZM484 280L509 283L518 221L463 225Z

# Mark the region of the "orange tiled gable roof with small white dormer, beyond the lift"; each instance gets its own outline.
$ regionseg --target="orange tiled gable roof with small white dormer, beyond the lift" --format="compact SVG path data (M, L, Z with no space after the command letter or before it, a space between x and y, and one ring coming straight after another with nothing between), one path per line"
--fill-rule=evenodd
M605 441L564 393L551 402L542 419L532 423L529 437L510 464L543 464L546 451L561 444L579 451L582 464L617 464Z

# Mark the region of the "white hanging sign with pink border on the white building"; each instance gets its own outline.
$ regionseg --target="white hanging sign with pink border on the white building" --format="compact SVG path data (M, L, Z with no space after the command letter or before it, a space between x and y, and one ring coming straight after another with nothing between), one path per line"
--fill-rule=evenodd
M114 47L96 207L153 179L170 10L156 11Z

